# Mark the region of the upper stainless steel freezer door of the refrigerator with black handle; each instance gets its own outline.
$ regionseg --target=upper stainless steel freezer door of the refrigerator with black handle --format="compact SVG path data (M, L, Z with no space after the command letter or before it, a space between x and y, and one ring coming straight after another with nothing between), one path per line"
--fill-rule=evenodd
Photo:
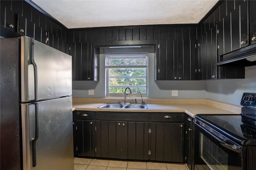
M21 100L72 95L72 57L32 38L21 37Z

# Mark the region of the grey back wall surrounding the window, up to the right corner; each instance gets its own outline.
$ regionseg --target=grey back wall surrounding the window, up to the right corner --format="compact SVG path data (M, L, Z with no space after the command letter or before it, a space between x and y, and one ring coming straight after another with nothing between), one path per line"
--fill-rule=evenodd
M151 47L151 49L154 49ZM113 51L115 50L115 51ZM73 81L73 97L104 98L105 89L105 53L122 52L124 49L100 48L100 81ZM128 50L125 48L125 50ZM129 48L129 51L131 49ZM136 52L138 48L132 49ZM128 52L129 52L128 51ZM154 81L154 50L149 52L148 98L150 99L206 99L206 81ZM88 89L94 89L94 95L88 95ZM178 90L178 97L171 96L171 90Z

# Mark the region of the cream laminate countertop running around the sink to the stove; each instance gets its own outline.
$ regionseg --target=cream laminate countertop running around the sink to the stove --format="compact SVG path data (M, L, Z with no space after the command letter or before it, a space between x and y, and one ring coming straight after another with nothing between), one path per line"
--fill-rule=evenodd
M192 99L196 100L196 99ZM198 99L200 100L200 99ZM208 99L203 99L208 100ZM88 101L87 101L88 102ZM73 99L73 110L79 111L112 111L112 112L178 112L178 113L186 113L191 117L195 117L197 114L240 114L240 106L236 105L229 105L225 104L225 106L221 106L221 103L218 103L218 107L209 105L209 103L216 104L216 101L207 101L202 102L200 101L199 104L197 101L191 102L190 99L186 103L173 103L170 102L165 104L156 104L146 103L148 105L148 109L104 109L98 108L99 106L103 105L104 103L87 103L86 101ZM92 102L92 101L91 101ZM94 102L95 99L94 99ZM106 102L107 103L107 102ZM205 104L207 103L207 104ZM223 109L224 108L224 109Z

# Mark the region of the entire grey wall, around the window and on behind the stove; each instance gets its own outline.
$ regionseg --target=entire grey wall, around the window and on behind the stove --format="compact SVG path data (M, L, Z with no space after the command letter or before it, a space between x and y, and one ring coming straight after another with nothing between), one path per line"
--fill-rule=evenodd
M105 97L105 53L113 52L100 49L100 81L73 81L73 97L104 98ZM139 50L134 49L135 52ZM256 93L256 66L245 68L245 79L221 79L202 81L154 81L154 51L149 53L148 98L150 99L211 99L234 105L240 105L242 94ZM88 95L88 89L94 89L94 95ZM178 96L171 95L178 90Z

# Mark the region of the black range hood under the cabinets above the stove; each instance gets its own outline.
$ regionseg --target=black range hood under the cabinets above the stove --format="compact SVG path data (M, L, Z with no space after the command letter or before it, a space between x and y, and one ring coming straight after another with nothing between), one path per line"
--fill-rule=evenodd
M256 43L220 55L220 61L215 66L252 66L256 65Z

